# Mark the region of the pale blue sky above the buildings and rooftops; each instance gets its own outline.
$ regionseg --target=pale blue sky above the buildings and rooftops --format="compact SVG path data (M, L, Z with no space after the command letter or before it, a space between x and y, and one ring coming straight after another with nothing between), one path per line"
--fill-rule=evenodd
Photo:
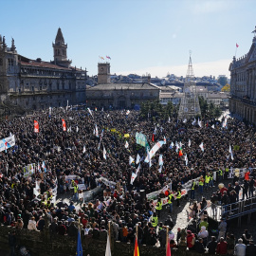
M0 0L0 34L19 54L53 59L62 28L72 65L97 74L99 56L111 73L186 75L189 51L195 76L225 74L235 54L245 55L256 26L250 0Z

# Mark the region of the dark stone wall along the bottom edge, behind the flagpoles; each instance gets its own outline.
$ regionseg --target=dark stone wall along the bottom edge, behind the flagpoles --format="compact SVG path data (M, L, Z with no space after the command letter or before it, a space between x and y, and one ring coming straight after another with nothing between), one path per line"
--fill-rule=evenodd
M14 228L0 227L0 255L9 255L9 231ZM16 229L19 246L25 246L32 256L70 256L76 255L77 237L55 235L51 237L48 230L37 232L33 230ZM82 255L102 256L105 255L106 241L94 240L82 235ZM111 241L112 256L133 256L134 244ZM165 248L139 246L140 256L165 256ZM194 252L180 248L172 251L173 256L194 256Z

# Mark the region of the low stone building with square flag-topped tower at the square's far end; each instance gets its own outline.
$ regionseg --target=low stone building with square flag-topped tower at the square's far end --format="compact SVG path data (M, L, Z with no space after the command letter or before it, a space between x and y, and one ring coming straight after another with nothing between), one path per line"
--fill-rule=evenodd
M148 82L110 83L110 64L98 64L98 85L87 88L88 107L138 109L143 101L159 100L160 88Z

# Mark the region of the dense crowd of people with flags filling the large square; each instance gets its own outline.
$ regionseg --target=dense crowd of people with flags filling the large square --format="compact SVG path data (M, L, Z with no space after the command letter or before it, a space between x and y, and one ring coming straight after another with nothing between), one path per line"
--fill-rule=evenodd
M38 133L34 131L34 120L39 123ZM159 241L161 247L165 245L163 233L168 225L172 247L175 247L172 218L164 216L165 221L161 223L158 218L163 209L161 201L158 200L156 206L153 200L143 201L140 190L155 192L171 183L165 195L169 197L172 214L173 195L176 195L178 207L179 192L190 180L223 172L217 177L221 179L231 167L247 168L255 174L255 129L251 125L236 119L229 119L226 128L215 119L205 119L202 123L200 127L190 120L141 119L136 111L93 111L90 114L87 110L74 108L52 109L51 113L39 111L1 122L0 136L15 136L15 145L0 153L1 225L36 231L49 229L51 234L75 236L80 217L85 235L105 240L111 220L117 240L133 243L138 227L138 244L155 246ZM144 162L145 148L136 143L135 135L140 132L148 138L151 148L157 141L166 139L152 158L151 167ZM179 144L178 150L172 142ZM203 150L199 147L202 142ZM233 159L229 155L229 145L237 146ZM140 162L129 163L129 156L136 159L137 155ZM159 155L163 159L160 171ZM188 157L187 164L184 155ZM36 166L33 174L25 176L24 167L33 163ZM138 165L137 178L131 184L131 176L137 172ZM78 208L76 201L81 196L77 195L81 192L74 189L76 184L69 186L65 179L68 175L78 176L74 182L84 183L87 191L101 186L108 192L108 198L101 196L89 203L81 200ZM119 188L108 187L101 177L119 183ZM209 182L204 180L203 185L199 180L199 192L213 185L212 179L207 180ZM53 200L56 186L62 196L72 190L76 195L74 202L56 204ZM34 192L38 187L39 195ZM49 227L46 227L45 217ZM199 240L201 238L199 236Z

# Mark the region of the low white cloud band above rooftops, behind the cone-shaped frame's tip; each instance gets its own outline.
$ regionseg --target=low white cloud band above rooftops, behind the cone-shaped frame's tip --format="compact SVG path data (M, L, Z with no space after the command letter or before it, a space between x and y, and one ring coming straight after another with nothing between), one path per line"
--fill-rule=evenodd
M203 76L215 76L226 75L229 77L229 64L231 63L231 59L229 60L219 60L215 62L208 63L198 63L192 64L193 73L195 77L203 77ZM167 73L174 74L176 76L185 77L187 74L188 64L183 65L157 65L157 66L149 66L141 69L131 69L131 70L122 70L118 71L117 74L128 75L128 74L137 74L137 75L145 75L146 73L150 73L151 77L165 77Z

